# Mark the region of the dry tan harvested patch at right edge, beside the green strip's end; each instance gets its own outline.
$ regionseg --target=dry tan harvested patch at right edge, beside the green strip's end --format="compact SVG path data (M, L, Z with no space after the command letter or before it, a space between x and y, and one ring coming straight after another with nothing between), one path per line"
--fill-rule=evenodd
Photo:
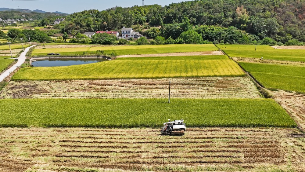
M274 99L287 110L298 126L305 131L305 95L273 91Z

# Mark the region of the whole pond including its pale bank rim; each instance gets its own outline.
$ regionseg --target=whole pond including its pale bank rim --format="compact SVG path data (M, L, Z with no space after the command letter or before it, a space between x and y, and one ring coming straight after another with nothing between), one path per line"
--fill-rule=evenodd
M56 66L71 66L79 64L90 64L102 61L108 61L108 58L96 58L96 57L86 57L86 58L75 58L75 57L41 57L31 59L31 65L33 67L56 67Z

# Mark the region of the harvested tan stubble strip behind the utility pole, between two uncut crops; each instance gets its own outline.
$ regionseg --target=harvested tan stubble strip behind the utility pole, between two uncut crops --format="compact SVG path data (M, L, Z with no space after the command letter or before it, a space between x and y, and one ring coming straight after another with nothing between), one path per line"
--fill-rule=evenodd
M249 77L176 78L172 98L260 98ZM11 81L0 98L167 98L169 79Z

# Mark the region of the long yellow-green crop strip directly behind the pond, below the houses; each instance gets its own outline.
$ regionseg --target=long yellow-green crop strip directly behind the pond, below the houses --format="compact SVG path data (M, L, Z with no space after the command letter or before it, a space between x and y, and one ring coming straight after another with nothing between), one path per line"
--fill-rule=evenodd
M159 53L181 53L181 52L201 52L217 51L218 48L213 44L190 45L145 45L145 46L92 46L76 48L46 48L34 49L32 56L46 56L48 53L60 53L61 55L81 55L84 52L94 54L97 50L103 50L105 54L115 53L119 55L134 54L159 54Z

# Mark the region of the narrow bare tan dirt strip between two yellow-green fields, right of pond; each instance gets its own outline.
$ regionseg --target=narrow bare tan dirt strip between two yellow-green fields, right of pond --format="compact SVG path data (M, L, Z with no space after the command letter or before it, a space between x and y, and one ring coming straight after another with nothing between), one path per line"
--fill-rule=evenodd
M203 52L188 52L188 53L162 53L162 54L137 54L137 55L122 55L120 57L170 57L170 56L207 56L207 55L224 55L221 51L203 51Z

